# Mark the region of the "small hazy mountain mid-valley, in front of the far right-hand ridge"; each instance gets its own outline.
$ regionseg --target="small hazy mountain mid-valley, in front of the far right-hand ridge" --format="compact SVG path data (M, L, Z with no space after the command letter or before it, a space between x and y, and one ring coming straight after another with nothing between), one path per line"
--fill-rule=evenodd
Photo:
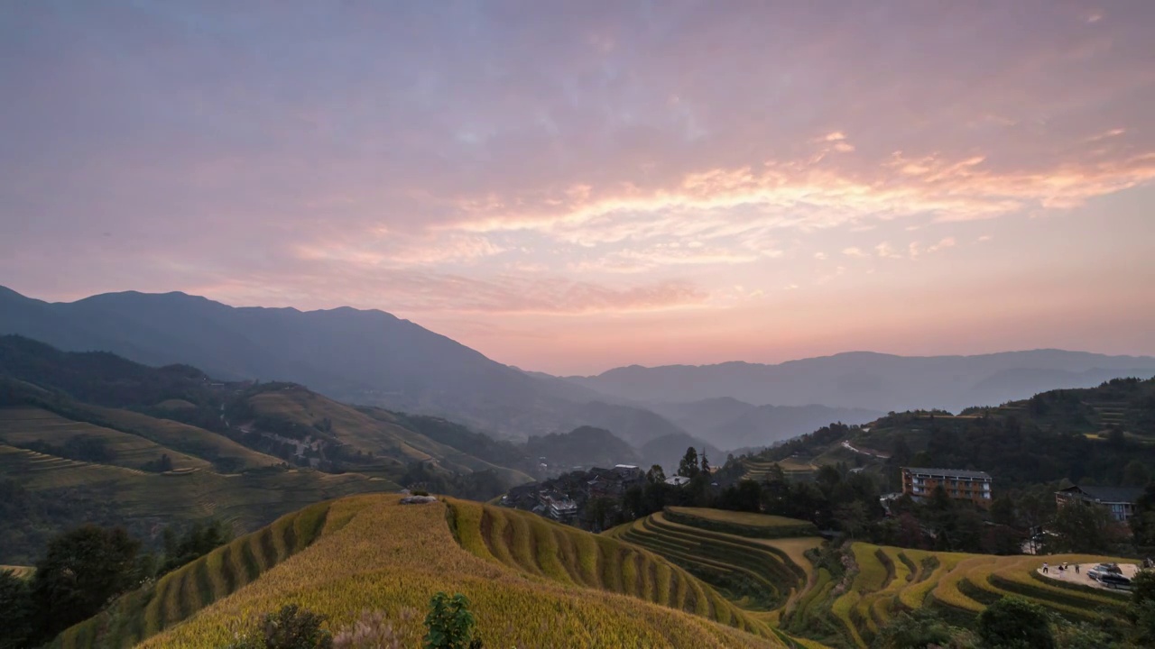
M698 439L726 449L769 446L833 422L865 424L884 415L826 405L751 405L730 397L653 404L650 409Z

